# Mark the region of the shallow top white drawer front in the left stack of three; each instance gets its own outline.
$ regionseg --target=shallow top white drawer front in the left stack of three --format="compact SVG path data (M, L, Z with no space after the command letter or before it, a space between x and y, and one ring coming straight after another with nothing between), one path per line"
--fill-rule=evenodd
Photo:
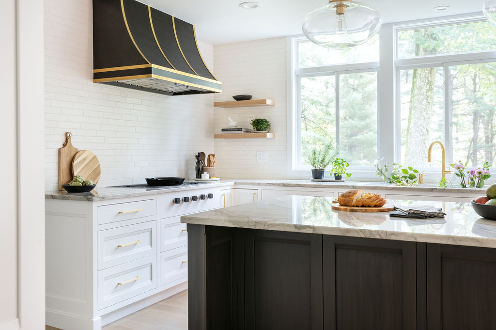
M97 207L97 224L117 222L157 214L157 199L130 201Z

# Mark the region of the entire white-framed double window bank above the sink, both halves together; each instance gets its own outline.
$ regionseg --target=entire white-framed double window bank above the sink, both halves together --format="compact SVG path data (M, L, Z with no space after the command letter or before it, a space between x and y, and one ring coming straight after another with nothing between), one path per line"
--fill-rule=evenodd
M496 24L438 18L380 34L345 51L290 38L289 174L308 177L309 150L332 140L353 178L375 179L383 158L434 180L440 153L428 163L427 150L440 140L446 164L489 161L496 178Z

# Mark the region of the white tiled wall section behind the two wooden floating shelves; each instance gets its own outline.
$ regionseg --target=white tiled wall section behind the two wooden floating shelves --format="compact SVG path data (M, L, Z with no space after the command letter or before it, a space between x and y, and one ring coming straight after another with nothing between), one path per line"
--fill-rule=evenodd
M288 178L286 158L286 38L256 40L214 46L215 76L222 81L222 94L215 101L233 100L232 95L251 94L268 98L275 106L215 108L214 129L227 127L228 117L239 127L251 128L253 118L271 122L274 139L215 139L217 175L225 178ZM267 151L268 162L257 163L256 152Z

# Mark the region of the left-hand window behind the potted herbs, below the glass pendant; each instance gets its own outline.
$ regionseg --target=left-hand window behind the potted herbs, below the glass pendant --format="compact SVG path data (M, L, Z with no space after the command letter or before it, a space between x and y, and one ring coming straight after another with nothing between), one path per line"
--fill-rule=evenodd
M297 43L295 168L308 167L310 149L330 142L353 166L377 158L378 43L375 37L345 51ZM328 65L331 60L340 64Z

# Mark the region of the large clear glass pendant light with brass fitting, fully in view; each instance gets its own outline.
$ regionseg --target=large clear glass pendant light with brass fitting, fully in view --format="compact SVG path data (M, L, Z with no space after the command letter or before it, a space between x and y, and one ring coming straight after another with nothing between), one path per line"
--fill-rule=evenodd
M371 39L380 24L379 13L368 4L330 0L305 16L302 29L307 38L317 45L347 49Z

